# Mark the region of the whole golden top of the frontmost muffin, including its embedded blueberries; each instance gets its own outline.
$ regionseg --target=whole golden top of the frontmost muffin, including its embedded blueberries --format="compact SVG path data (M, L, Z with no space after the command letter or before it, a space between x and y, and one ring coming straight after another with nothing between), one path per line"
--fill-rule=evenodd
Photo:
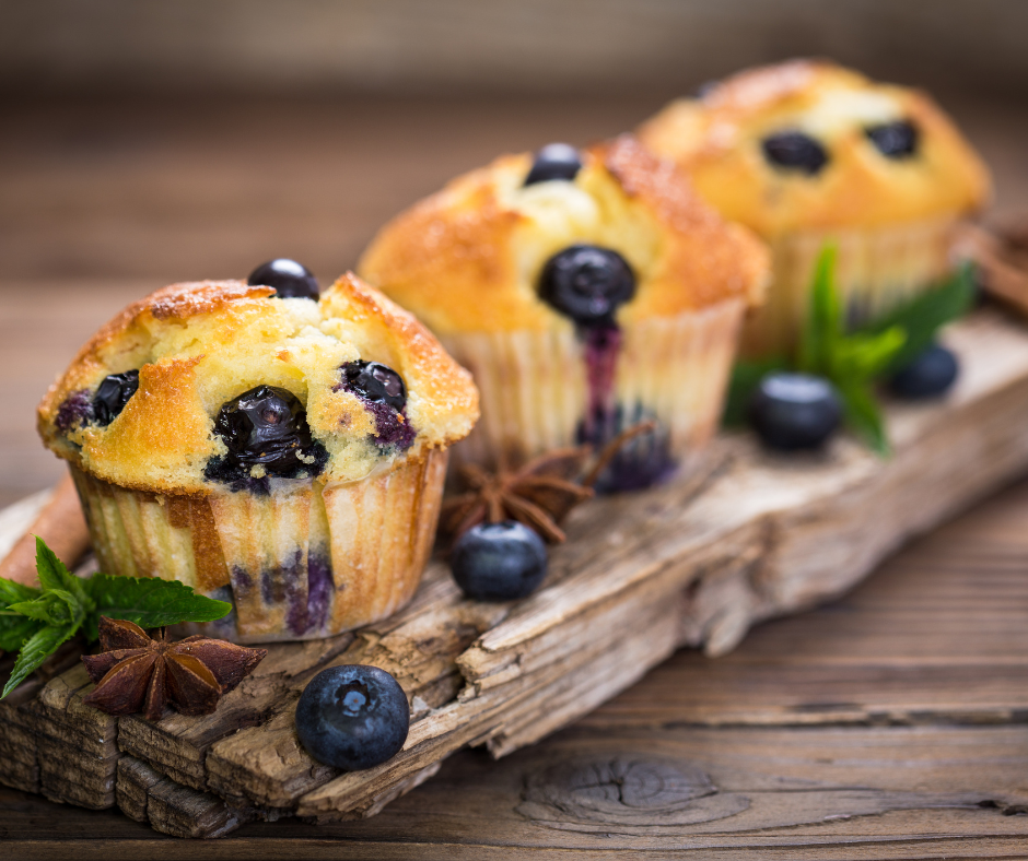
M357 481L466 436L470 375L352 274L320 298L173 284L82 347L38 409L59 457L140 491Z

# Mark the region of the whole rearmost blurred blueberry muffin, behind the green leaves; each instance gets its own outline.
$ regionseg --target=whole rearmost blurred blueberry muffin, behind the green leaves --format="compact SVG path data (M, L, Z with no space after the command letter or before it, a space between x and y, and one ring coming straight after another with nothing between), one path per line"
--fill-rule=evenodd
M990 189L982 161L927 95L827 61L741 72L673 102L639 134L769 243L773 283L744 335L750 355L795 345L826 241L838 247L850 318L873 320L951 271L955 228Z

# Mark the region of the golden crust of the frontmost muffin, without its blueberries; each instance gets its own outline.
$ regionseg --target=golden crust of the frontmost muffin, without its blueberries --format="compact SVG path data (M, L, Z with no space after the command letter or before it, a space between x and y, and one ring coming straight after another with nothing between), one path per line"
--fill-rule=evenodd
M50 387L38 409L46 445L90 474L148 492L207 494L213 433L223 403L259 385L304 403L329 461L323 481L355 481L467 435L478 417L470 375L410 314L351 273L319 302L278 299L242 282L174 284L133 303L104 326ZM374 444L374 416L340 386L340 367L383 362L407 386L406 451ZM139 388L106 427L57 426L61 405L91 398L108 374L139 370Z

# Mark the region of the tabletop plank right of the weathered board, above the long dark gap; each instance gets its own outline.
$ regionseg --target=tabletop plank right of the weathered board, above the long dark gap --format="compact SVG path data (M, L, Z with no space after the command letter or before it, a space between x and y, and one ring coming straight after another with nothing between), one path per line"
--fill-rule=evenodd
M580 726L1028 720L1028 485L819 610L710 661L680 651Z

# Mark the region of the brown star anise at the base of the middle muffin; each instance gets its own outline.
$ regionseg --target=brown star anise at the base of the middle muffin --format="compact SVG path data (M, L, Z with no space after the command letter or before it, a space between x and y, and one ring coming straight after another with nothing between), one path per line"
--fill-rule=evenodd
M593 456L592 446L549 451L517 469L501 463L494 473L474 464L462 467L459 475L468 491L443 505L442 527L457 539L478 523L513 519L547 541L560 543L566 538L560 528L561 520L595 495L593 485L618 449L654 427L654 422L643 422L619 434L585 474L583 470Z

